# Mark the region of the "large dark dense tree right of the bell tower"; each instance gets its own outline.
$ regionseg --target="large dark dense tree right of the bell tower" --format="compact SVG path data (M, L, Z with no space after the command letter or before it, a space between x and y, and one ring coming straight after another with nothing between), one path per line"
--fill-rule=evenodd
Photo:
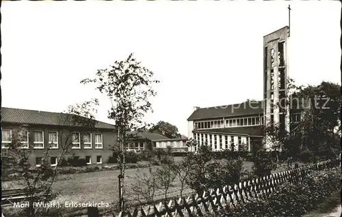
M308 85L293 98L305 99L308 106L298 123L301 148L313 151L315 156L329 156L341 150L336 134L341 133L341 85L321 82Z

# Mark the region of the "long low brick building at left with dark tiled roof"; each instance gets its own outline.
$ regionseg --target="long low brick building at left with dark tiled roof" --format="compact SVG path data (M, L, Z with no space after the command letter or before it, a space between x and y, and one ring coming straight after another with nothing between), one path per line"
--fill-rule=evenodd
M90 123L86 121L85 123ZM113 125L94 121L93 126L75 125L64 113L1 108L2 152L6 152L13 136L21 133L22 149L29 149L29 162L40 165L49 151L51 166L57 164L63 148L69 147L66 158L84 158L87 164L102 164L112 156L117 143Z

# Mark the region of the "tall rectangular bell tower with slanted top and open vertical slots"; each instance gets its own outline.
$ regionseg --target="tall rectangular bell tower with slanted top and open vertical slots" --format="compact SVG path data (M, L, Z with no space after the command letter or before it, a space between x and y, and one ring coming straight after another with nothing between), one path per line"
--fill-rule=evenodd
M263 37L263 93L264 123L289 130L289 111L286 106L289 61L289 26ZM279 106L275 106L279 105Z

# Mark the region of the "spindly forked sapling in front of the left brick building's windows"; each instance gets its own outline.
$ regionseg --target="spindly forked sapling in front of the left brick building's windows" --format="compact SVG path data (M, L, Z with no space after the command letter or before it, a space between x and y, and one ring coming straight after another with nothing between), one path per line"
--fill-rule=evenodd
M27 216L36 216L38 211L34 205L35 203L47 203L55 197L52 192L52 185L57 176L57 169L61 160L70 152L70 147L73 144L70 135L73 130L77 130L82 134L83 130L94 128L95 121L92 115L92 106L94 104L96 104L96 100L75 104L75 106L69 106L68 113L59 115L60 126L57 126L59 128L57 134L60 136L60 153L55 167L51 167L51 158L49 156L49 148L53 145L52 143L44 150L40 167L34 167L29 162L34 150L30 146L23 148L23 144L27 143L29 145L27 138L29 126L23 125L18 130L13 130L8 151L14 158L11 165L12 169L20 177L18 184L23 186L26 199L29 202L29 207L25 209ZM55 139L58 139L57 135L52 141L55 141Z

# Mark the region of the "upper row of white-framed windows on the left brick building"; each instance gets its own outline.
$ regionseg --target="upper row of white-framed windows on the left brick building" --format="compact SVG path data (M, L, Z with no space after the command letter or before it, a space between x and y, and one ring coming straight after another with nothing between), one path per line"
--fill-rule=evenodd
M29 132L20 132L19 138L21 139L22 148L29 148ZM44 148L44 131L36 130L34 133L34 148L43 149ZM49 133L49 148L58 149L58 132L51 131ZM2 134L2 145L1 148L7 148L10 143L12 143L12 130L3 129ZM71 142L73 149L81 149L81 134L78 132L71 134ZM92 149L92 134L85 133L82 134L82 142L84 149ZM95 148L103 148L103 136L102 134L95 134Z

